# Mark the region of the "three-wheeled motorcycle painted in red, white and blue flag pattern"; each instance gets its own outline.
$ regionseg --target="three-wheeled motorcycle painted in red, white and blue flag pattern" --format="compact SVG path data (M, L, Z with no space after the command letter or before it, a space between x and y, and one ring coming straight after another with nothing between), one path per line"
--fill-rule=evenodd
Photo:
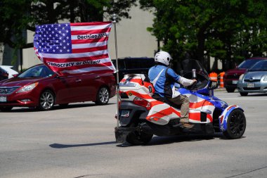
M190 61L189 61L190 62ZM192 62L192 61L191 61ZM191 65L190 65L191 64ZM115 127L118 143L125 141L133 145L148 144L153 135L178 134L213 135L222 132L228 139L239 139L246 129L244 110L228 104L214 96L218 83L211 81L203 68L187 63L183 77L197 77L190 87L176 84L178 91L190 100L189 122L193 128L180 123L180 106L167 98L155 96L155 89L148 76L143 74L124 75L119 82L119 127ZM191 68L196 68L191 72Z

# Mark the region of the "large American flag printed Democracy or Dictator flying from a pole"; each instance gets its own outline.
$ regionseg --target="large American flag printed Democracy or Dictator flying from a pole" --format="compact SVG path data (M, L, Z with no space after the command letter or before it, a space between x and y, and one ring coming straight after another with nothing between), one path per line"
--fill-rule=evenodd
M34 51L60 75L115 72L108 55L111 22L37 25Z

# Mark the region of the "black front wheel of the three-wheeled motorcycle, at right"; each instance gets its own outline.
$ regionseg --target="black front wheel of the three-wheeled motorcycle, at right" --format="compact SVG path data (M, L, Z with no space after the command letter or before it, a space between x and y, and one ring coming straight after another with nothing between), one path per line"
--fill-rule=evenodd
M233 110L227 119L227 129L223 135L228 139L240 139L246 129L246 117L242 110Z

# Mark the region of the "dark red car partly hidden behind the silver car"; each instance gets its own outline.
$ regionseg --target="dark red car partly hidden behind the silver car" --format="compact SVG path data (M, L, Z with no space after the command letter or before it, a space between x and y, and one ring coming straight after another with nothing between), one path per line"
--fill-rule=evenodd
M240 77L240 75L244 74L249 68L252 67L255 63L264 60L267 58L248 58L240 65L237 66L237 68L227 70L225 74L223 75L223 84L226 88L227 92L233 92L237 88L237 82Z

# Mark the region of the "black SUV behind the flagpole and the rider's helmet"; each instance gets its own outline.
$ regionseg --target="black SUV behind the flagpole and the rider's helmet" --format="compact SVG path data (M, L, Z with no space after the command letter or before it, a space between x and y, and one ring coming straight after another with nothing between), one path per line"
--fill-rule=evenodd
M119 81L126 74L148 74L148 70L155 65L154 58L118 58L119 65ZM112 63L116 68L116 60L112 59Z

